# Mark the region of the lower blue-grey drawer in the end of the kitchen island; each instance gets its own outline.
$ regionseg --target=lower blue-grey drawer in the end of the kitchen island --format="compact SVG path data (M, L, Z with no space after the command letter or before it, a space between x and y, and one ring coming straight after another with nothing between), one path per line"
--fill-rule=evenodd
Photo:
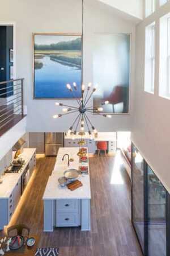
M57 213L57 226L78 226L78 213Z

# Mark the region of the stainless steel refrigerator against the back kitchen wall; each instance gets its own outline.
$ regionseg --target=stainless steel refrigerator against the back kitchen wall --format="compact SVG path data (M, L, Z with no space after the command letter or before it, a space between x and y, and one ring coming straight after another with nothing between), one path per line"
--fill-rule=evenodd
M64 133L45 133L45 155L56 156L64 146Z

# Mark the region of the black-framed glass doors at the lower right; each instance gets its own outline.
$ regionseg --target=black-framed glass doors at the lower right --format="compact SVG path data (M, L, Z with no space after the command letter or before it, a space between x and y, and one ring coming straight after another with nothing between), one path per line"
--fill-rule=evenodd
M131 221L145 256L170 255L170 195L132 144Z

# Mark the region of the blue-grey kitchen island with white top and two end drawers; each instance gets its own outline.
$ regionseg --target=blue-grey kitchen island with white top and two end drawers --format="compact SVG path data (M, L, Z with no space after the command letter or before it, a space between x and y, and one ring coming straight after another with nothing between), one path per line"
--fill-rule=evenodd
M44 231L53 232L54 227L61 226L81 226L81 230L90 230L90 175L89 165L80 163L78 147L59 148L56 164L52 175L48 179L45 188L44 200ZM74 161L67 166L67 158L62 161L62 157L69 154ZM79 166L88 166L87 175L79 175L78 180L83 186L70 191L67 187L61 187L58 178L63 176L67 169L74 168L79 170Z

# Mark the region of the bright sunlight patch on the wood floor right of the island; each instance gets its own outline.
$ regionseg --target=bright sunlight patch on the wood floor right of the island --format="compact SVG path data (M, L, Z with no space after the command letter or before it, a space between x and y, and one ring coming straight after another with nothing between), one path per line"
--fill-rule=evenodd
M114 158L111 184L116 184L116 185L124 184L124 180L123 180L121 172L120 172L122 163L123 162L122 162L121 152L120 152L120 150L117 150L116 156Z

